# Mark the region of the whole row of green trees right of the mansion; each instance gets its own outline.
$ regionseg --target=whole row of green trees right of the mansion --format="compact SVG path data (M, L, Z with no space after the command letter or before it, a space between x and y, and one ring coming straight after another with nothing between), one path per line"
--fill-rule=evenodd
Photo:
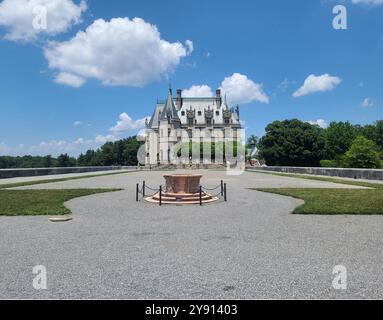
M331 122L327 128L274 121L256 146L269 166L382 168L383 120L365 126Z

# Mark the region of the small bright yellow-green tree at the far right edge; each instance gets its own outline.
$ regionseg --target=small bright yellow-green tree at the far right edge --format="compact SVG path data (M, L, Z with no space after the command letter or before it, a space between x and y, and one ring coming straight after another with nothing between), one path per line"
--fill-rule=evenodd
M358 136L343 157L347 168L381 168L376 144L364 136Z

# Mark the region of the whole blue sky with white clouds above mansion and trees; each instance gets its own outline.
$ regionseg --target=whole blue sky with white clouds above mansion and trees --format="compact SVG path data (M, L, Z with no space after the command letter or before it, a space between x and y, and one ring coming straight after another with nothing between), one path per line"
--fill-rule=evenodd
M45 28L29 25L36 3ZM337 4L347 30L333 28ZM247 135L290 118L372 123L382 18L381 0L0 1L0 155L77 155L135 134L169 78L190 94L222 87Z

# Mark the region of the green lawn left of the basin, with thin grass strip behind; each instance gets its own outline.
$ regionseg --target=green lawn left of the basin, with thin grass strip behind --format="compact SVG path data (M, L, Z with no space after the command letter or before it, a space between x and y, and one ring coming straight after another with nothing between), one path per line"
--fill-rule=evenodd
M0 216L25 215L65 215L70 210L64 202L74 198L84 197L96 193L113 192L121 189L52 189L52 190L7 190L22 186L43 183L61 182L68 180L88 179L94 177L123 174L129 171L119 171L99 175L87 175L73 178L45 179L28 182L0 184Z

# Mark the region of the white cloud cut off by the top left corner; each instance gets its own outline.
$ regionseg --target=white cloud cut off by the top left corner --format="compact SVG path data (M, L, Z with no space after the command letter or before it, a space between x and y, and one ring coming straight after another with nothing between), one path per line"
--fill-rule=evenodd
M42 8L46 14L42 14ZM40 34L53 36L67 31L81 21L86 9L85 1L76 4L72 0L4 0L0 3L0 26L6 29L6 39L28 42ZM43 20L46 25L36 24Z

